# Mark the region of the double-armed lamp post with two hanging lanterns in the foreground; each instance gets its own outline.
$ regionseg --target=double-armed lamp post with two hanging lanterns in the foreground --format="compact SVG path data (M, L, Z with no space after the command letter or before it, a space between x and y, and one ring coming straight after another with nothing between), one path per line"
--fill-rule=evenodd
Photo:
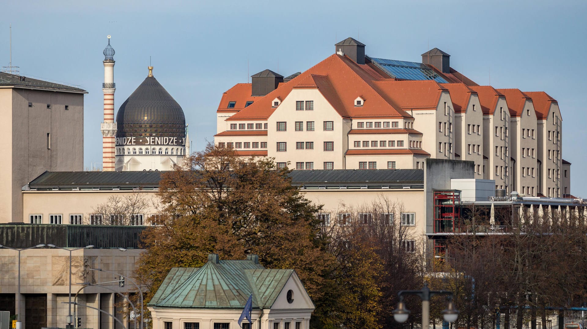
M448 306L446 310L442 311L444 321L447 322L454 322L457 321L458 317L458 310L454 308L453 303L453 292L448 290L430 290L427 283L424 283L424 287L420 290L400 290L397 293L397 297L399 297L399 302L397 303L397 307L395 310L392 311L393 318L399 322L404 323L407 321L408 316L410 315L410 311L406 308L406 303L404 303L404 296L407 295L416 295L419 296L422 300L422 329L429 329L430 324L430 297L436 295L447 295L448 296Z

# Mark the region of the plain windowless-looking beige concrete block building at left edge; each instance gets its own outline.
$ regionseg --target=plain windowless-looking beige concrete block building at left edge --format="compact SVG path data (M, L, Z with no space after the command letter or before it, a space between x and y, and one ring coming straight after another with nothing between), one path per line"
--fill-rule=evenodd
M43 171L83 170L83 96L87 91L0 72L0 223L22 218L22 186ZM34 221L34 219L33 219Z

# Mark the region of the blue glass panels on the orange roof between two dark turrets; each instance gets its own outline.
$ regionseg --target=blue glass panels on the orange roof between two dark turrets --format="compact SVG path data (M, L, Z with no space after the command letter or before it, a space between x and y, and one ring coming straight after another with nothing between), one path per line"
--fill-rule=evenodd
M439 76L431 70L430 67L422 63L373 57L371 57L371 60L390 76L397 79L434 80L438 83L447 83L443 77Z

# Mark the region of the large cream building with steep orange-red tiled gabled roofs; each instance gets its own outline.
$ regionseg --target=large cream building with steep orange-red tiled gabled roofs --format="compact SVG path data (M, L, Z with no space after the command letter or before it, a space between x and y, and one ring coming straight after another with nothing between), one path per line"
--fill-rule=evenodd
M335 50L300 74L264 70L227 90L215 143L306 170L471 160L495 189L562 196L562 118L548 94L478 86L437 48L421 63L367 56L352 38Z

